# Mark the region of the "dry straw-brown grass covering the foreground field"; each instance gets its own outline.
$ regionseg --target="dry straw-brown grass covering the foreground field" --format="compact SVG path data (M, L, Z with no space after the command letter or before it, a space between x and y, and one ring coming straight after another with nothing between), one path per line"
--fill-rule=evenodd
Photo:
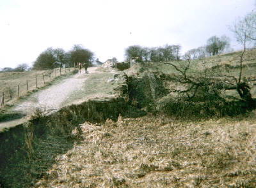
M85 122L83 141L58 155L35 187L255 187L255 114Z

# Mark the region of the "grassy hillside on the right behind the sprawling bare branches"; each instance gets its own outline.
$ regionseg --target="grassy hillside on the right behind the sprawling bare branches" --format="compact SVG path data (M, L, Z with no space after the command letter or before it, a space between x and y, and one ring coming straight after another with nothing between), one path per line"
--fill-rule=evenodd
M191 78L191 81L194 81L195 83L203 83L203 81L209 82L209 85L205 85L205 87L207 87L209 90L198 90L196 93L197 96L194 98L195 100L191 100L191 102L194 102L193 110L195 110L196 105L200 105L200 103L202 103L200 108L205 107L205 101L207 101L207 99L205 99L206 96L204 96L204 93L214 92L214 87L211 89L212 84L215 85L215 87L220 87L218 83L228 83L232 85L232 87L236 87L236 80L234 80L234 78L237 78L237 80L239 78L240 55L241 52L232 52L230 54L222 54L205 59L192 60L190 62L189 68L186 70L186 76ZM243 62L243 73L241 76L242 81L248 83L252 98L256 98L255 57L256 50L248 50L246 52ZM186 90L186 88L188 89L190 81L184 81L184 75L182 75L180 71L177 71L177 69L175 69L171 64L177 66L180 71L184 71L186 66L188 66L188 61L147 62L136 64L132 66L132 68L125 71L127 76L131 78L129 82L132 85L132 88L135 89L130 91L130 96L134 99L134 102L136 102L138 106L148 107L148 101L150 101L152 108L154 106L154 108L159 110L164 110L166 107L169 108L172 106L172 103L173 105L177 105L175 103L177 102L178 92L173 92L173 90L181 91ZM234 98L236 100L241 99L236 89L219 89L218 92L220 92L218 96L226 101L233 101ZM216 96L211 97L214 98ZM151 100L152 98L154 100ZM184 107L181 106L181 108ZM188 106L188 108L191 108L191 106ZM210 108L216 107L210 106ZM220 108L225 108L225 105L222 107L220 106ZM170 110L170 108L168 110ZM211 111L211 109L209 110ZM232 111L232 109L227 110ZM202 113L206 112L203 110ZM216 114L216 110L214 110L212 113Z

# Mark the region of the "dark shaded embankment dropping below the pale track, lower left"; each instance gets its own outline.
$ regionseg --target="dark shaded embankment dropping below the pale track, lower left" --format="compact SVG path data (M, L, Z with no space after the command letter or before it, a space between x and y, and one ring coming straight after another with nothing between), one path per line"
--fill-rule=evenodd
M4 187L29 187L32 180L45 175L56 155L79 141L85 121L118 119L127 110L125 98L88 101L71 105L49 116L36 112L28 123L0 133L0 184Z

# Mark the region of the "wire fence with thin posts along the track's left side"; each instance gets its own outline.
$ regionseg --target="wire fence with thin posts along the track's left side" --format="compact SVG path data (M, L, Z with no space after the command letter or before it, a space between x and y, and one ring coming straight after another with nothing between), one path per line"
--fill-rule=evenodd
M66 75L75 68L54 68L45 71L35 71L35 74L22 75L22 73L10 72L11 79L1 81L0 100L1 107L13 99L20 98L28 94L29 91L39 89L51 83L55 78ZM26 73L24 73L26 74ZM17 78L15 78L17 76ZM20 78L19 78L20 77ZM12 78L15 78L12 80ZM4 83L3 83L4 82Z

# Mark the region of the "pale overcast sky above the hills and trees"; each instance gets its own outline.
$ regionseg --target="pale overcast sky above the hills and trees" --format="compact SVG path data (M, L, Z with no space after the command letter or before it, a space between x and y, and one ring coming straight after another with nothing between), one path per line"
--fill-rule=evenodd
M228 25L253 8L255 0L0 0L0 68L75 44L100 61L124 61L130 45L181 45L184 53L223 34L238 49Z

